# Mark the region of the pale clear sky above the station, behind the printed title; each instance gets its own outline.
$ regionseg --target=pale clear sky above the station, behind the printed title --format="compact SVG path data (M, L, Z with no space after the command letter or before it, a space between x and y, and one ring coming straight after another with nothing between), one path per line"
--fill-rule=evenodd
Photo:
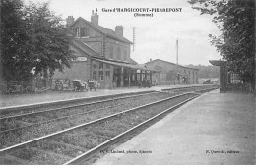
M99 25L113 29L124 28L124 37L133 41L131 58L139 64L150 59L176 63L176 40L179 41L178 64L211 65L209 60L220 59L220 54L210 44L209 34L220 35L212 16L200 15L188 0L32 0L33 3L49 2L49 8L63 19L73 16L91 20L92 10L97 9ZM25 0L29 2L29 0ZM153 12L153 17L135 17L136 12L103 12L113 8L181 8L181 12ZM147 14L147 12L140 12ZM151 14L152 12L148 12Z

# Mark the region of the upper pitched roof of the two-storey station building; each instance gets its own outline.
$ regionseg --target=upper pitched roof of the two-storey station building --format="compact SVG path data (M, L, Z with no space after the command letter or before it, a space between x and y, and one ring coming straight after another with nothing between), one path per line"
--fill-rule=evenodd
M83 22L87 23L88 25L90 25L93 28L96 28L96 30L98 30L99 32L103 33L104 35L108 36L108 37L112 37L114 39L120 40L122 42L126 42L126 43L130 43L132 44L132 42L128 39L126 39L123 36L118 35L115 31L113 31L112 29L108 29L108 28L104 28L101 26L96 26L94 24L92 24L91 22L85 20L82 17L79 17L70 27L72 27L73 25L75 25L75 23L77 23L79 20L82 20Z

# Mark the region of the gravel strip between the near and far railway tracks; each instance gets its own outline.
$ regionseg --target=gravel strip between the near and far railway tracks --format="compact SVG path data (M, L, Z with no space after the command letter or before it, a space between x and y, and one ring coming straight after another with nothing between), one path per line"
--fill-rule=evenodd
M117 113L117 112L127 110L136 106L147 104L149 102L154 102L154 101L169 97L169 95L166 93L158 93L158 94L154 94L151 96L148 95L144 97L145 98L143 99L141 97L137 97L137 98L135 97L129 100L120 100L120 101L124 101L125 105L117 106L115 108L101 109L94 113L87 113L85 115L79 115L76 117L60 120L53 123L45 123L45 124L39 125L38 127L32 127L26 130L18 131L18 132L1 134L0 135L1 148L5 148L7 146L14 145L16 143L20 143L23 141L32 140L41 136L45 136L57 131L74 127L82 123L87 123L113 113ZM81 110L78 110L78 112L81 112L83 110L84 109L82 108ZM89 109L86 108L86 110L89 110ZM72 110L71 110L71 113L72 113Z

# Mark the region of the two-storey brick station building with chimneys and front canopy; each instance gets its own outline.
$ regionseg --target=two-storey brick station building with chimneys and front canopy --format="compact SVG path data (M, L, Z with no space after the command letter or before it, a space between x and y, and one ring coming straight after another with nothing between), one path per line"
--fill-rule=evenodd
M91 22L69 16L66 28L73 35L70 46L76 56L71 68L55 72L55 79L95 80L101 88L134 86L144 79L152 80L156 72L138 65L130 58L133 44L123 36L123 27L115 30L98 25L99 16L92 11Z

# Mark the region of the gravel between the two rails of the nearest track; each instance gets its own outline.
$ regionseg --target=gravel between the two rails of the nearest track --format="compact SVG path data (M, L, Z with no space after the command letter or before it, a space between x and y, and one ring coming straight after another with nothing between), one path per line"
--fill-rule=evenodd
M153 117L171 105L177 104L178 102L181 102L192 96L194 95L179 97L173 100L162 102L160 104L156 104L154 106L136 110L132 113L125 113L123 115L112 118L107 122L94 124L76 131L71 131L63 134L61 137L52 140L67 142L82 148L90 149L102 143L103 141L109 140L110 138L128 130L129 128L134 127L139 123ZM78 156L82 152L80 150L74 150L60 145L52 144L48 140L40 141L38 143L38 147L43 149L43 151L50 150L49 152L54 151L60 155L64 154L70 157ZM30 148L21 150L20 153L16 153L15 156L29 160L30 164L63 164L68 160L66 157L59 158L59 156L56 156L55 154L41 154L40 152L34 151L31 153Z

